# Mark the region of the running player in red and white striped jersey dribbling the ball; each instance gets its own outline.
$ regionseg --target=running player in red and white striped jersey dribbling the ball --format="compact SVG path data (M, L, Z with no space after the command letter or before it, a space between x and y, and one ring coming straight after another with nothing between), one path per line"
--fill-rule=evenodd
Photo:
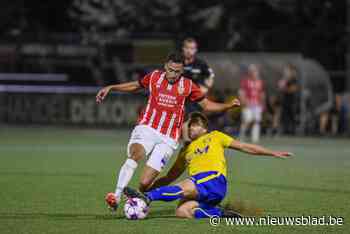
M106 196L106 202L112 210L117 208L122 191L131 180L140 160L148 156L140 178L141 191L151 187L169 161L178 146L186 100L198 102L207 112L226 111L240 105L238 99L230 103L208 100L198 85L182 76L183 61L180 53L172 53L164 64L164 71L155 70L139 81L107 86L96 96L97 103L100 103L110 91L131 93L143 88L149 92L147 106L131 133L128 158L119 171L115 193Z

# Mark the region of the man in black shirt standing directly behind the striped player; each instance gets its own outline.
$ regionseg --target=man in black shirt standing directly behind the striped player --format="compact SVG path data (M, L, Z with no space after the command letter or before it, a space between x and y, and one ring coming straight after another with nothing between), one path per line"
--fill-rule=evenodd
M197 42L193 38L187 38L183 41L182 52L185 57L185 66L183 76L191 79L201 88L204 94L213 87L214 73L208 64L196 56L198 50ZM200 110L196 103L186 103L186 112Z

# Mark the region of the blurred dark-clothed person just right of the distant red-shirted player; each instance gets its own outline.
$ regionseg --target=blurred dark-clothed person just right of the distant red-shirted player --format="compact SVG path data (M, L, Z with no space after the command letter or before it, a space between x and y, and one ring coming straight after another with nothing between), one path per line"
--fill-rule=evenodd
M300 85L295 66L288 64L278 82L281 90L281 124L285 134L294 134L300 112Z

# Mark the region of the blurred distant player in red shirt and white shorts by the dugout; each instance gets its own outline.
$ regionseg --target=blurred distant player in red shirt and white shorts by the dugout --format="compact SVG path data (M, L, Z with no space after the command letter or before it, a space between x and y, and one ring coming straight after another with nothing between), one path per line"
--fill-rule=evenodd
M239 95L243 108L240 139L245 139L247 129L252 126L251 140L256 143L260 139L260 122L265 103L264 83L256 64L249 65L248 74L241 80Z

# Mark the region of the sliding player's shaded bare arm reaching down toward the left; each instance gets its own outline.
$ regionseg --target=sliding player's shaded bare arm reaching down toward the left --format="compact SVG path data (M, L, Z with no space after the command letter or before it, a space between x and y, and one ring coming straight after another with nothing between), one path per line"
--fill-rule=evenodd
M152 186L149 188L149 190L171 184L172 182L174 182L177 178L179 178L182 175L182 173L185 171L185 169L186 169L185 161L179 155L179 157L177 157L177 159L176 159L176 162L170 168L168 173L165 176L157 179L152 184Z

